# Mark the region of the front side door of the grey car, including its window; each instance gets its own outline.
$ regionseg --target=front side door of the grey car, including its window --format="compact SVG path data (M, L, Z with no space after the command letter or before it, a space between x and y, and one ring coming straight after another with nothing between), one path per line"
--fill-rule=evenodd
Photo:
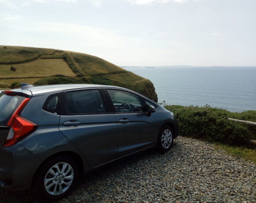
M140 97L124 90L106 91L119 128L120 156L153 146L157 139L155 117L153 113L147 116Z

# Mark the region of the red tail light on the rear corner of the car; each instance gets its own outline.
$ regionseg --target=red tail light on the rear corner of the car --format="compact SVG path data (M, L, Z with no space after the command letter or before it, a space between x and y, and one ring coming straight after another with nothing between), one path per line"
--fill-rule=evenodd
M28 101L29 99L25 98L8 121L8 125L11 126L3 147L14 145L37 129L37 124L20 116L22 109Z

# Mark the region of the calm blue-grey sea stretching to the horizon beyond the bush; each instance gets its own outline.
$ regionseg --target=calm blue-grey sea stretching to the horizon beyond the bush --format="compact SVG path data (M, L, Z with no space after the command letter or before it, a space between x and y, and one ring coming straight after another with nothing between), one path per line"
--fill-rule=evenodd
M158 102L230 112L256 110L256 67L122 67L150 79Z

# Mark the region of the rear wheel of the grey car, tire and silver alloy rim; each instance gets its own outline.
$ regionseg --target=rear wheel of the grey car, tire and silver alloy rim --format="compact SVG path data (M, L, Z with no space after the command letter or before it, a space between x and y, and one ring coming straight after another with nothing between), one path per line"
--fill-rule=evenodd
M34 177L32 189L40 199L56 201L72 190L78 179L78 166L68 156L47 160Z

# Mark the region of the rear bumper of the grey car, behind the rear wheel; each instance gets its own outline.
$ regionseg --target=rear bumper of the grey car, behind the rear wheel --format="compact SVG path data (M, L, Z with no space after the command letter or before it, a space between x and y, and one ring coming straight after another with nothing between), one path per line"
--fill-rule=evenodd
M0 188L30 188L40 164L41 160L20 144L0 149Z

